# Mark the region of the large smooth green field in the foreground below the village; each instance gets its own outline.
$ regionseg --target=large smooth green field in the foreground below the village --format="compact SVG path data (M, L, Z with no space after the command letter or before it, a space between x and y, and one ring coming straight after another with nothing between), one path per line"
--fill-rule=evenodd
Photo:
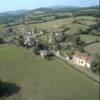
M0 78L21 87L5 100L99 100L94 81L57 58L47 61L21 47L0 46Z

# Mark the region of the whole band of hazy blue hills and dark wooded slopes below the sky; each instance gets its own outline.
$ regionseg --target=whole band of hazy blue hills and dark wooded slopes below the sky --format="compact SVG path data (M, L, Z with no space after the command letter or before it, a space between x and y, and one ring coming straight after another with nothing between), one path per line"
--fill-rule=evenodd
M42 17L55 17L56 13L72 13L73 16L95 16L100 17L99 6L92 7L75 7L75 6L52 6L52 7L42 7L33 10L17 10L0 13L0 24L7 24L9 22L18 22L21 19L25 22L26 16L31 18L31 22L34 20L37 22L43 22L45 18L41 19L37 17L38 15ZM35 18L37 17L37 19ZM59 17L59 16L56 16ZM66 16L60 16L59 18L65 18Z

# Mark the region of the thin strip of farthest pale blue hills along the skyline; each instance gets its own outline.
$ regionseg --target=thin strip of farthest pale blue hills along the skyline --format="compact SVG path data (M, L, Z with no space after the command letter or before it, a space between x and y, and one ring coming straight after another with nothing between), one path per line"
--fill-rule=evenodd
M50 13L50 12L68 12L83 9L99 9L99 6L92 7L77 7L77 6L52 6L52 7L42 7L33 10L16 10L0 13L0 16L6 15L22 15L22 14L39 14L39 13Z

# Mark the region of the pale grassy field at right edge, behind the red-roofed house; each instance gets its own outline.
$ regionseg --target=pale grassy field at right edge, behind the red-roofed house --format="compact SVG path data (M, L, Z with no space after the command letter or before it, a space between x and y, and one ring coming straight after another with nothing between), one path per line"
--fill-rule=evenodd
M100 43L88 45L85 47L85 50L94 56L96 53L100 53Z

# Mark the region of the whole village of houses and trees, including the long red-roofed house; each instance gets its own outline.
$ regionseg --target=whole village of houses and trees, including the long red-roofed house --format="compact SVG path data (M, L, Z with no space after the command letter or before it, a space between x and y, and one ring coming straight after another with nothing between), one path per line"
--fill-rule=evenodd
M81 47L74 47L71 41L67 44L62 42L65 39L62 30L47 32L46 30L37 30L36 27L34 30L30 27L26 29L21 28L21 30L23 33L19 36L20 45L32 48L36 55L40 55L44 59L51 59L53 56L57 56L75 66L91 68L95 65L95 59ZM68 36L68 38L72 37ZM76 41L83 42L80 40L80 37L77 37Z

